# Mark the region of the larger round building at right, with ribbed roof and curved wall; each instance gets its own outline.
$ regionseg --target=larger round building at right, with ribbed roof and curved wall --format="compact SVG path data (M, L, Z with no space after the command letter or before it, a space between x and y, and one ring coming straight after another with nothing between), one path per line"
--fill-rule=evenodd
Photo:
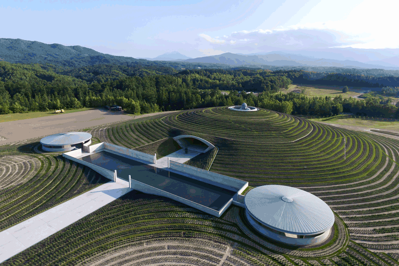
M245 196L246 218L262 235L284 244L318 244L331 234L335 217L315 195L285 185L263 185Z

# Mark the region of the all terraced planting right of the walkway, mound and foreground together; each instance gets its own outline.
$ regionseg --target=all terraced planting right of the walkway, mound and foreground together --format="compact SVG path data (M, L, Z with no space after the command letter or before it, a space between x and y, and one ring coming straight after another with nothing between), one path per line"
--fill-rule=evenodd
M199 266L398 265L395 140L268 110L243 113L226 107L88 132L129 148L153 143L153 150L156 141L181 134L206 139L218 147L211 171L252 186L290 185L319 196L336 213L334 235L324 246L293 249L257 236L239 207L216 218L132 191L4 265L169 265L176 260Z

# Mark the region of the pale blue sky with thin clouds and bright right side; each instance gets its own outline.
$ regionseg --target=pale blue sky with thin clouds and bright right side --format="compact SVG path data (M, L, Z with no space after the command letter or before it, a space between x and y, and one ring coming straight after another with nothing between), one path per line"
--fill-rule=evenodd
M0 38L155 58L399 48L392 0L7 0Z

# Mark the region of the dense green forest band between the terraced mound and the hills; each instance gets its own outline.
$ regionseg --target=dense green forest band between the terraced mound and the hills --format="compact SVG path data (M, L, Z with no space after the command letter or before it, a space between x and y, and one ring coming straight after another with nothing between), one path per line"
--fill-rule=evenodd
M383 104L377 98L357 101L353 98L308 98L303 94L279 93L280 88L287 88L292 82L376 87L380 90L385 87L387 90L392 88L392 91L399 86L395 77L325 75L303 70L235 68L177 72L165 66L113 64L65 70L53 65L0 62L0 114L112 104L139 114L247 102L250 106L288 114L331 116L344 111L399 118L397 107ZM259 92L259 95L246 92Z

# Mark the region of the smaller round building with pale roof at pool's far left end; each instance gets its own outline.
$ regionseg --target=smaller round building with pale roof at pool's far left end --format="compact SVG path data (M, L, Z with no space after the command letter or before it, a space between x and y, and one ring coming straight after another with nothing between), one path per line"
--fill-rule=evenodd
M90 145L91 137L86 132L58 133L42 138L40 143L45 151L70 151L82 148L83 144Z

